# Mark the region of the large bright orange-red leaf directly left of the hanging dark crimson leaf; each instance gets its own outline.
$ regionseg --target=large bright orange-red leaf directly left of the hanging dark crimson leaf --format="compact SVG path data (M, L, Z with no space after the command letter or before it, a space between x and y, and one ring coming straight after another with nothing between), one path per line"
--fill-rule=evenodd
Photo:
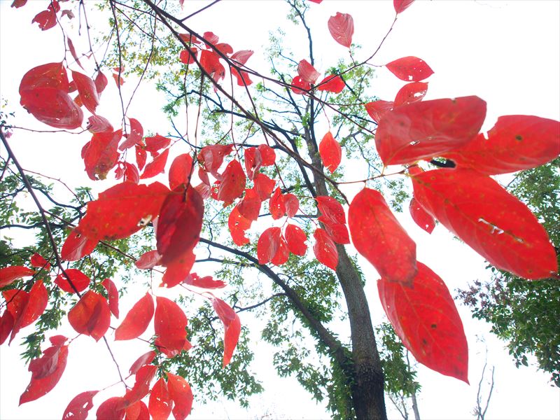
M167 195L169 190L159 182L148 186L120 183L87 203L79 232L95 240L130 237L158 217Z

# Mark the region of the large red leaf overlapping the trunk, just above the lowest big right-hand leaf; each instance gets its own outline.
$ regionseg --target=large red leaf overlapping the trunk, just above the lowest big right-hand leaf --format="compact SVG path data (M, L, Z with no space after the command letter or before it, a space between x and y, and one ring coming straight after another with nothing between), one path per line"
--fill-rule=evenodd
M379 191L364 188L348 211L352 243L381 277L409 285L416 276L416 244Z

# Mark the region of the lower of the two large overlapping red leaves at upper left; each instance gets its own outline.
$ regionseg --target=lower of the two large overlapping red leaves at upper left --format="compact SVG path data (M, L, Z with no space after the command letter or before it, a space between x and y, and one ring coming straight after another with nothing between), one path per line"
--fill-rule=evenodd
M41 123L51 127L73 130L82 125L82 110L62 90L52 87L24 90L20 104Z

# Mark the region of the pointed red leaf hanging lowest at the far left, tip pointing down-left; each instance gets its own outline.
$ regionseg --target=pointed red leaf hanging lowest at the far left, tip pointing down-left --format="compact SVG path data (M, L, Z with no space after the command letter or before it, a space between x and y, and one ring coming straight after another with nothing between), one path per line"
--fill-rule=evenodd
M29 363L31 381L20 396L20 405L41 398L51 391L64 373L66 359L68 358L68 346L65 346L64 342L57 342L52 338L50 341L53 345L43 351L43 356L31 360L31 363ZM66 341L65 337L62 338Z

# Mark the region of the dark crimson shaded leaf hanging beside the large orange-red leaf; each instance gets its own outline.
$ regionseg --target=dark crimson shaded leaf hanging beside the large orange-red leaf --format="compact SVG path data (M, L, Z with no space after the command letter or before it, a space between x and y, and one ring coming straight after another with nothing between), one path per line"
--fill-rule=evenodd
M179 187L167 196L160 210L156 234L161 264L167 266L193 251L200 238L204 202L195 188Z

